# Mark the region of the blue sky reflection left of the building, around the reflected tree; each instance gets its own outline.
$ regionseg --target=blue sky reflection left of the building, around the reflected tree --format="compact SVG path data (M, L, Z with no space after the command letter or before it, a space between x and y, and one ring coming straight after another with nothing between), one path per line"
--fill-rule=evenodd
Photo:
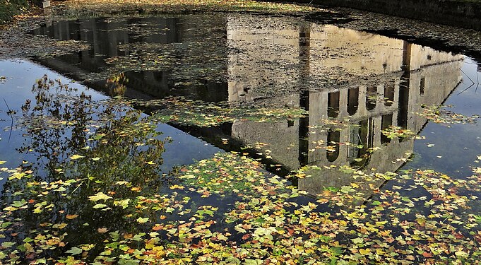
M25 100L30 99L35 102L31 89L35 80L42 78L44 74L47 74L51 79L59 78L62 83L69 83L69 87L77 88L78 93L84 92L87 95L92 95L93 100L108 98L96 90L85 88L80 83L73 83L71 79L32 61L0 61L0 76L6 76L7 78L6 81L0 83L0 160L6 161L0 167L17 167L22 160L35 160L35 157L31 155L16 152L16 148L22 146L25 137L23 131L8 129L11 126L11 117L6 112L10 107L11 110L16 110L16 116L19 116L21 115L20 107L25 103ZM8 107L5 102L8 103ZM162 154L164 160L162 170L170 170L173 165L193 163L194 159L210 158L214 153L220 151L220 149L167 124L159 124L158 129L163 132L162 136L172 138L172 143L166 144L165 153ZM1 177L4 177L4 179L0 180L0 191L6 181L6 175Z

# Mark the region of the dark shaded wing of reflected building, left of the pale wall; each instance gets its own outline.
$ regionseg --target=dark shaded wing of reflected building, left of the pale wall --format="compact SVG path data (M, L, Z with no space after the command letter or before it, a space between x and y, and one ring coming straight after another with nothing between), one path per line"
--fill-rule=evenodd
M202 23L199 23L202 21ZM151 45L170 49L171 57L182 61L182 58L194 57L202 50L204 36L222 40L225 35L225 23L222 16L210 16L209 19L196 16L170 17L138 17L138 18L85 18L81 20L59 21L49 23L32 31L35 35L45 35L58 40L81 40L90 45L90 49L75 54L63 54L59 57L39 58L41 64L51 67L73 78L88 76L90 73L105 71L107 61L115 57L129 57L129 54L146 52L137 49L136 45ZM215 35L215 36L213 36ZM201 43L198 50L183 48L189 43ZM176 47L177 49L173 49ZM218 45L222 45L219 42ZM204 50L218 49L210 42L204 44ZM206 48L208 47L208 48ZM147 48L148 49L148 48ZM157 54L153 54L155 56ZM225 54L222 54L225 57ZM190 65L178 65L177 69L189 68ZM225 66L223 66L225 68ZM128 67L127 67L128 68ZM227 100L227 84L213 81L203 76L188 76L194 85L177 84L174 74L176 69L160 71L127 71L129 80L126 96L145 100L165 98L168 95L188 95L199 100ZM120 71L120 70L119 70ZM226 69L221 71L226 71ZM104 81L88 82L98 90L105 90Z

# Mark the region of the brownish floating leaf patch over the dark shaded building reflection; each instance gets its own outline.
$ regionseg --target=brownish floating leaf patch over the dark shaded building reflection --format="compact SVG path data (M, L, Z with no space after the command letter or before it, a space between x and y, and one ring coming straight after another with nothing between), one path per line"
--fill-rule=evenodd
M131 27L135 28L135 25L129 25L129 29L133 30ZM89 73L83 78L97 81L114 73L126 71L169 71L170 78L176 81L175 83L200 80L225 81L227 61L223 56L226 49L226 45L223 44L225 38L222 37L224 34L213 25L205 27L208 28L206 33L198 33L195 31L196 28L189 30L189 38L182 43L135 42L119 45L121 52L128 51L127 56L109 57L106 59L105 69L99 73ZM148 34L145 28L136 30Z

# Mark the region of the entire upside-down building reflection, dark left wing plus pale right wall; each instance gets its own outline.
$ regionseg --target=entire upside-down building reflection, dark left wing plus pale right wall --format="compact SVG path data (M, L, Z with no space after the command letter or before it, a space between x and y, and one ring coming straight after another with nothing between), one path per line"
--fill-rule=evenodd
M90 43L92 49L88 51L37 59L73 78L106 69L107 59L138 52L132 45L135 43L155 44L161 52L162 47L175 47L171 57L177 62L162 71L124 73L129 79L125 95L131 98L185 95L206 101L304 107L309 110L309 117L304 119L236 121L227 130L225 126L219 130L223 136L213 136L215 130L203 133L211 138L230 135L243 146L266 143L273 160L289 170L302 165L397 170L403 162L396 159L412 152L413 141L388 139L381 130L400 126L419 132L426 119L413 112L420 112L421 105L439 105L446 100L461 81L463 59L333 25L239 14L222 14L210 20L190 16L112 21L95 18L55 23L34 33ZM199 42L206 38L217 42ZM198 46L187 49L189 45ZM186 78L195 81L193 85L179 85L176 74L196 68L189 62L213 58L218 58L214 61L219 62L223 82L205 78L200 69L198 76ZM105 90L105 81L88 86ZM347 121L337 130L319 128L326 119ZM363 148L355 147L360 145ZM331 146L330 151L326 146ZM372 147L381 150L368 155L367 148ZM323 187L349 182L348 175L319 171L315 177L299 179L299 188L319 192Z

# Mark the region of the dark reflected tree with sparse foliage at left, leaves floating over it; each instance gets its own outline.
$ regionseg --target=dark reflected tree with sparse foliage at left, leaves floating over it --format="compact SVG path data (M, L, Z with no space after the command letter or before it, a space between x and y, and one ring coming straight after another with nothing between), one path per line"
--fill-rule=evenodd
M102 228L140 229L129 219L136 213L125 208L139 195L158 194L162 188L166 179L159 166L169 140L161 138L149 117L123 100L95 102L48 76L37 80L32 92L35 102L28 100L22 107L25 142L18 152L35 160L4 169L9 175L1 198L0 218L8 224L1 229L4 240L46 237L42 253L37 249L19 257L28 261L56 256L69 241L96 242ZM117 194L123 200L114 201L119 207L102 206L101 200L92 207L95 194ZM62 227L65 223L69 225ZM48 240L53 240L51 245Z

